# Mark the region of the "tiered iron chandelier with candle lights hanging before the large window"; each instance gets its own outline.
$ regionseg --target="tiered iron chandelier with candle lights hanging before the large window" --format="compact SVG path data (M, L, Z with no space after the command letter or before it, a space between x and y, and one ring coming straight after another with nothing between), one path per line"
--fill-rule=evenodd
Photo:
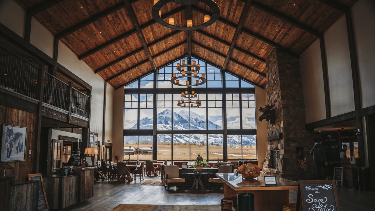
M181 92L180 100L177 101L177 105L186 108L201 106L202 102L199 101L198 93L193 91L193 87L205 84L206 82L204 73L199 76L199 70L201 69L199 64L196 64L195 61L193 61L192 64L186 64L186 61L183 60L181 65L177 63L176 69L178 73L172 74L171 83L186 87L186 90ZM180 84L181 78L186 78L185 84ZM195 83L192 82L194 80Z

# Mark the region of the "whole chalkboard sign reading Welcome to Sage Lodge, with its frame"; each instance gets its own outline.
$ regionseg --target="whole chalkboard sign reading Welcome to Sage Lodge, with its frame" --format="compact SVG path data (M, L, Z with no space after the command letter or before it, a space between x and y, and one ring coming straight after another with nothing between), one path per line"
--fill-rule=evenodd
M298 184L297 211L339 211L334 180L305 180Z

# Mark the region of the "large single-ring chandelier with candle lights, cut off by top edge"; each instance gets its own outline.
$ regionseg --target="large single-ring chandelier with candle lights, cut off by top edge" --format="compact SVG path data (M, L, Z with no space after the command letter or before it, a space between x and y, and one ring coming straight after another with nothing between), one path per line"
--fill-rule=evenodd
M173 2L175 4L181 4L181 19L180 19L180 24L175 25L174 18L169 17L168 22L165 22L161 16L161 11L160 9L165 5L168 4L169 2ZM182 10L187 9L187 6L196 4L202 2L206 4L208 7L210 7L212 15L205 15L204 16L204 23L200 25L194 25L193 26L193 20L188 19L186 21L186 26L182 24ZM215 21L219 19L220 16L220 9L219 6L214 2L214 0L154 0L154 6L152 7L151 14L153 18L155 19L156 22L159 24L172 28L174 30L181 30L181 31L189 31L189 30L198 30L204 27L207 27L211 24L213 24Z

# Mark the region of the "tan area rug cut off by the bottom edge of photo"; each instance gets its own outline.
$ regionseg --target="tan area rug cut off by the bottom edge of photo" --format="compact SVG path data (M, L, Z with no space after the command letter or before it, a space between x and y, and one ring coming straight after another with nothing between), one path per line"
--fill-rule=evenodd
M176 211L176 210L194 210L194 211L217 211L220 205L135 205L119 204L111 211L136 210L136 211Z

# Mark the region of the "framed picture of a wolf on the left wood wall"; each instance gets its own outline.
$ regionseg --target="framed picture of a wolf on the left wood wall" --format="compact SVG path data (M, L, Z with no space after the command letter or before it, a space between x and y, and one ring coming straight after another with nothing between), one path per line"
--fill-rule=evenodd
M27 127L1 125L0 162L25 160Z

